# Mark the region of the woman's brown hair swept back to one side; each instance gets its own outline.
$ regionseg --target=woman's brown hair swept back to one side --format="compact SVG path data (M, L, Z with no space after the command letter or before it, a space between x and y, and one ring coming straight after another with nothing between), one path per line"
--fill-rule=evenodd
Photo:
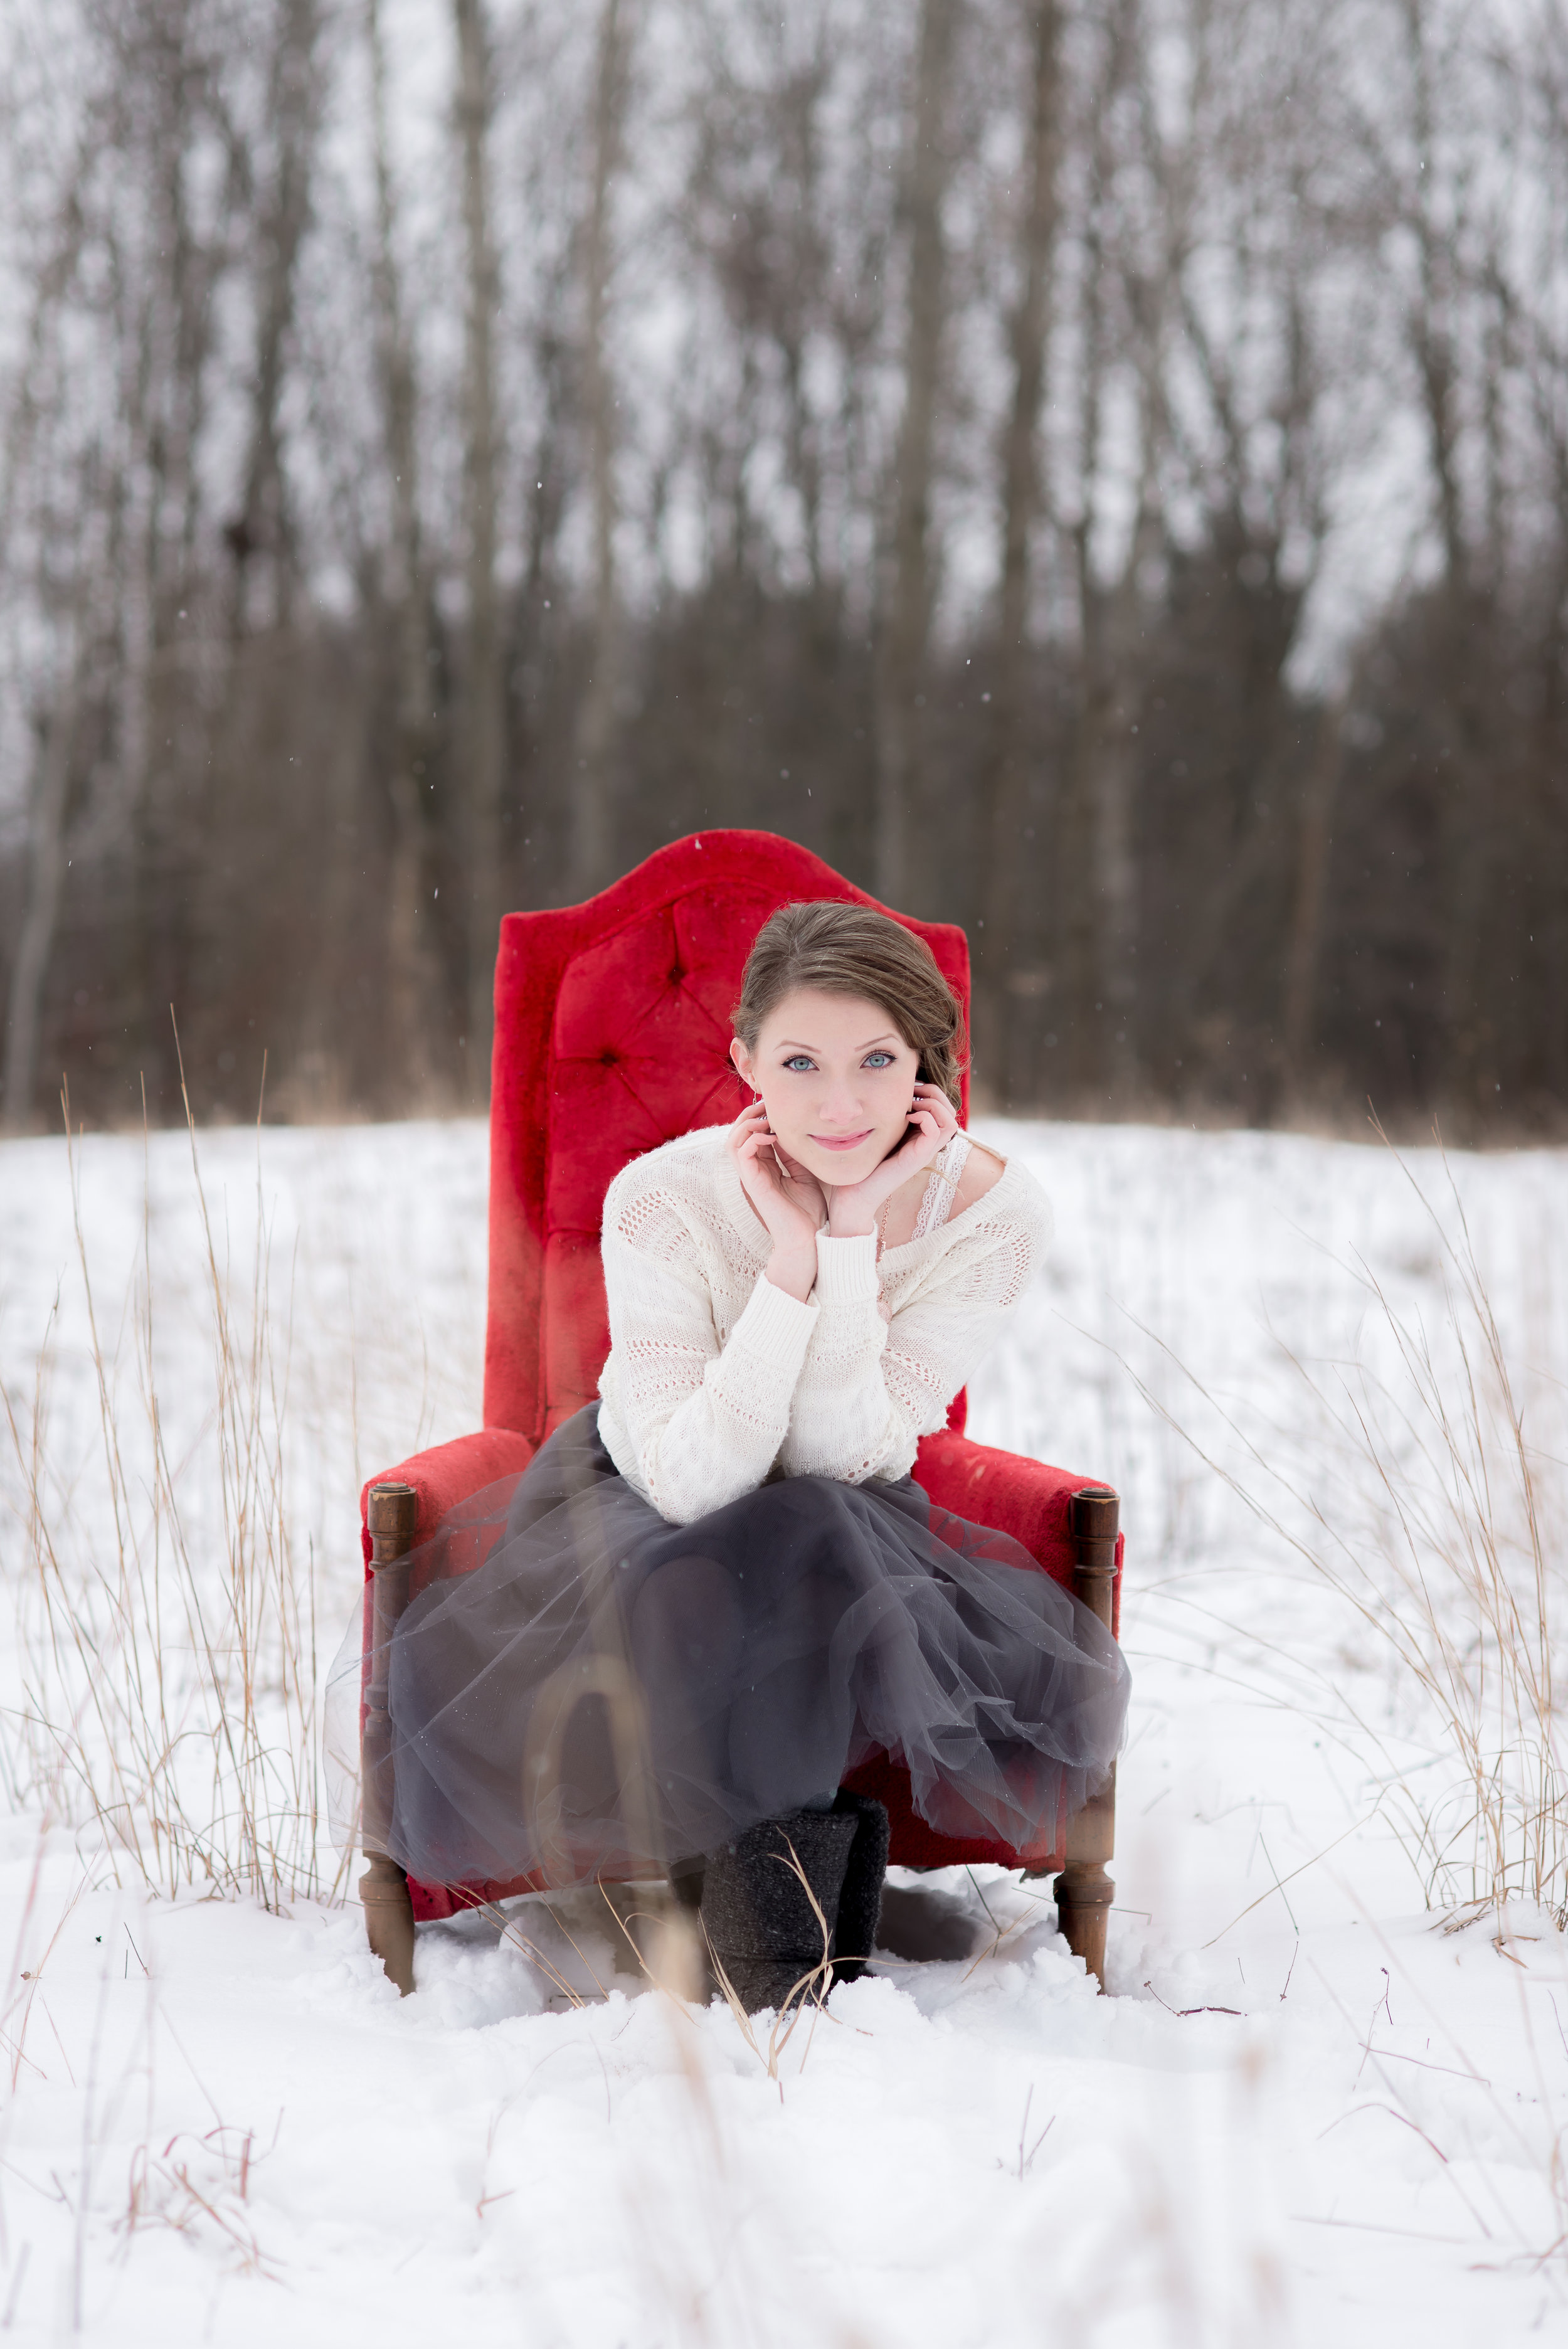
M796 987L880 1005L911 1052L920 1055L925 1083L941 1085L958 1109L967 1052L962 1005L932 949L901 921L833 897L779 907L756 933L730 1015L746 1052L756 1052L763 1019Z

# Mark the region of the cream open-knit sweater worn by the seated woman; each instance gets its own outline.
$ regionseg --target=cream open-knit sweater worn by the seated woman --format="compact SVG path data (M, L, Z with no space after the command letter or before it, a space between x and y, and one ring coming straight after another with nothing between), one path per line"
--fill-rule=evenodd
M925 1238L817 1236L810 1304L763 1278L763 1231L704 1128L634 1158L603 1203L610 1358L599 1433L671 1525L784 1475L901 1478L946 1423L1052 1236L1045 1193L1005 1165Z

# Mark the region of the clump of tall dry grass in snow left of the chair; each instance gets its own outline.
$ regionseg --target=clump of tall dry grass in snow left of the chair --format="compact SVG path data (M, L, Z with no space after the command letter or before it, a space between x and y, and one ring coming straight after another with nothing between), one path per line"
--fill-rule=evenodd
M185 1104L211 1388L204 1431L176 1459L157 1384L150 1165L129 1311L138 1405L127 1407L117 1353L101 1337L68 1095L61 1106L101 1480L80 1496L49 1456L49 1332L26 1419L5 1398L31 1593L12 1778L19 1792L59 1790L70 1825L96 1823L115 1877L129 1858L157 1891L204 1884L277 1907L322 1891L317 1665L312 1574L293 1553L284 1501L289 1344L272 1332L261 1165L256 1257L235 1294Z

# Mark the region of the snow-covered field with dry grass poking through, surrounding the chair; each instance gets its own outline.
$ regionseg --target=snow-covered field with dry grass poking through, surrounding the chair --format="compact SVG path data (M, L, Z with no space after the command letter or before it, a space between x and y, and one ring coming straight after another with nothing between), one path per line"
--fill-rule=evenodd
M117 1470L66 1149L0 1146L0 1384L16 1433L0 1428L0 2333L115 2349L239 2349L279 2330L298 2349L1561 2337L1568 1945L1523 1903L1505 1936L1491 1912L1425 1907L1418 1820L1451 1832L1462 1773L1378 1633L1387 1489L1368 1482L1345 1407L1336 1426L1291 1360L1329 1400L1366 1393L1352 1372L1336 1386L1352 1360L1399 1398L1359 1257L1427 1332L1453 1393L1437 1231L1376 1146L986 1132L1038 1170L1059 1238L974 1381L972 1433L1124 1494L1136 1696L1113 1994L1096 1999L1068 1959L1049 1886L960 1875L939 1891L972 1921L974 1954L887 1961L838 1990L777 2077L725 2008L688 2015L646 1992L594 1898L519 1905L509 1940L481 1919L425 1929L420 1994L399 2001L357 1905L331 1898L324 1846L319 1896L272 1912L200 1884L153 1896L87 1799L127 1611L185 1590L169 1496L202 1614L162 1600L157 1703L169 1743L202 1755L204 1781L185 1759L176 1771L195 1804L202 1785L228 1799L237 1783L197 1734L211 1719L190 1628L223 1649L235 1520L249 1508L251 1541L258 1522L284 1525L324 1665L359 1579L361 1475L479 1423L481 1128L268 1130L261 1182L256 1135L202 1137L230 1367L242 1360L225 1402L188 1142L153 1137L146 1165L141 1139L82 1142ZM1437 1156L1408 1165L1441 1203ZM1561 1459L1568 1158L1451 1170L1530 1438ZM265 1360L246 1351L258 1198ZM277 1445L246 1452L244 1426L263 1421ZM1383 1426L1399 1489L1425 1478L1441 1499L1453 1475L1420 1421L1390 1407ZM1371 1616L1263 1529L1178 1428L1256 1496L1284 1468L1296 1496L1275 1496L1275 1515L1310 1527L1317 1503L1345 1529ZM265 1478L244 1482L256 1456L275 1508ZM1547 1459L1549 1597L1568 1621L1561 1494ZM87 1663L49 1649L40 1534L54 1623L92 1623ZM122 1546L136 1571L82 1600ZM1462 1609L1441 1593L1434 1607L1462 1680L1479 1651ZM54 1708L75 1771L49 1771L28 1703ZM263 1745L300 1703L275 1665L261 1672ZM237 1832L232 1816L204 1820L214 1851ZM1444 1898L1467 1884L1451 1870Z

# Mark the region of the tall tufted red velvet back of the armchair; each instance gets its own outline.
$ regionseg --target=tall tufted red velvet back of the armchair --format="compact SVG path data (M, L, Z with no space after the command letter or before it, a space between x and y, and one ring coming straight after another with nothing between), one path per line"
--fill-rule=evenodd
M812 897L876 904L772 832L702 832L660 848L587 904L502 921L488 1428L540 1442L599 1393L610 1351L599 1268L603 1193L643 1151L739 1113L730 1010L751 940L782 904ZM894 921L927 942L967 1017L962 930L904 914ZM951 1426L962 1428L962 1395Z

